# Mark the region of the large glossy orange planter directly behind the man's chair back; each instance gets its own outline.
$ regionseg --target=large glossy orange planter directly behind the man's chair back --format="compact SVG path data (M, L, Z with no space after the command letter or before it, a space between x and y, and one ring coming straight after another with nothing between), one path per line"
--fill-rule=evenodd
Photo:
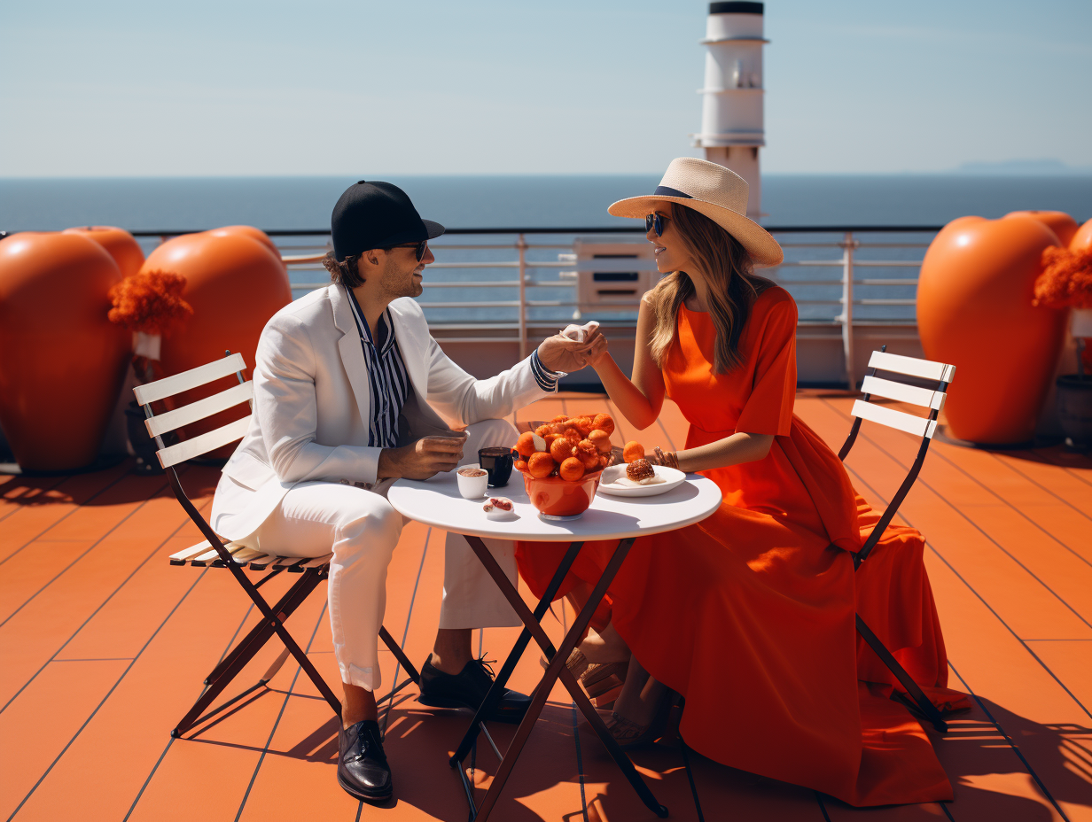
M277 309L292 301L284 263L252 231L258 229L188 234L149 254L142 271L181 274L186 277L182 298L193 308L183 326L163 339L159 364L165 376L219 359L225 350L242 354L250 376L262 329ZM191 403L228 385L229 381L219 381L187 392L177 403ZM238 416L237 410L224 412L188 426L186 434L212 430Z

